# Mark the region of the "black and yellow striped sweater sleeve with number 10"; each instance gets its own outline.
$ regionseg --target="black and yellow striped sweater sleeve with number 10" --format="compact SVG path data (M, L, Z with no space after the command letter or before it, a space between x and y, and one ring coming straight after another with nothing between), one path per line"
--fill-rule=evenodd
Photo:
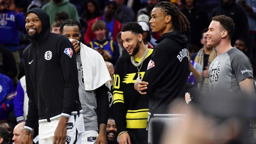
M115 118L118 133L122 131L126 131L127 124L126 124L125 117L127 113L127 108L125 107L118 61L117 61L117 64L115 67L115 73L114 73L113 108L114 108L114 118Z

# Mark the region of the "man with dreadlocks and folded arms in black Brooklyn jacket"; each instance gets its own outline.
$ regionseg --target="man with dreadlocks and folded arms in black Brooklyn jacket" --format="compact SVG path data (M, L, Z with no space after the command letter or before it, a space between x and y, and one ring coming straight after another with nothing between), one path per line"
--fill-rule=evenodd
M170 2L157 4L151 17L150 28L161 37L142 81L134 84L137 91L149 96L148 143L152 143L153 121L168 121L172 125L183 116L169 114L168 109L176 98L184 98L188 78L188 40L184 34L189 28L187 18Z

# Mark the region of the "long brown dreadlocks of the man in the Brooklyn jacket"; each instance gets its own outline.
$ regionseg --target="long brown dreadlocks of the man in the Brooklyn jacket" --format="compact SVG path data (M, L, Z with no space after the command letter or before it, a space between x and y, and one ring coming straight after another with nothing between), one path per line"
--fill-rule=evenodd
M190 29L186 16L173 3L160 2L155 7L160 7L164 16L170 15L172 17L173 27L178 32L185 33L187 29Z

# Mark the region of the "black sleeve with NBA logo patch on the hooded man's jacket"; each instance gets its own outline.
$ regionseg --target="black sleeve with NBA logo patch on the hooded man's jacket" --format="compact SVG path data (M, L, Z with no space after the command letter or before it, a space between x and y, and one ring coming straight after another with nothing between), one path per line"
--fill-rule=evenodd
M63 109L61 116L69 118L78 96L79 83L77 78L78 71L76 66L76 55L72 43L66 36L59 38L57 47L59 47L60 50L59 62L65 82L63 88Z

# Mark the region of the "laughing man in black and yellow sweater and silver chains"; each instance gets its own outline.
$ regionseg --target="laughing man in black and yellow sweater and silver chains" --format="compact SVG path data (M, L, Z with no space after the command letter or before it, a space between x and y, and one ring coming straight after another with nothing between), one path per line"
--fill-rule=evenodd
M144 45L143 29L137 22L128 22L122 27L121 39L128 54L117 60L113 80L119 143L146 144L148 97L134 90L134 82L143 78L153 49Z

